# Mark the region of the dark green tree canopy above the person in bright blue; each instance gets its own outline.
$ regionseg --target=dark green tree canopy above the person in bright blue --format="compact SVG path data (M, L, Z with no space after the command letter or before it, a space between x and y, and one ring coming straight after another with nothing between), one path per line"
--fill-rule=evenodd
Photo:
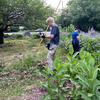
M100 31L100 0L70 0L58 23L62 27L74 24L84 31L92 27Z

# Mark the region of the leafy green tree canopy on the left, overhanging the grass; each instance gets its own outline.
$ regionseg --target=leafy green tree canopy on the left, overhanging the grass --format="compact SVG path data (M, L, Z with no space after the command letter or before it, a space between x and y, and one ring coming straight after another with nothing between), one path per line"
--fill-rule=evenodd
M0 0L0 27L23 25L28 29L45 27L53 9L41 0Z

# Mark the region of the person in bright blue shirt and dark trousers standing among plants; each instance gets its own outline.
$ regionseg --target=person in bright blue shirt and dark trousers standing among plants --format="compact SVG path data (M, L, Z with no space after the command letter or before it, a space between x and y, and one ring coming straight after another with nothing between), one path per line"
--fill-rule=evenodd
M72 45L74 49L74 53L79 52L79 30L75 29L75 31L72 33Z

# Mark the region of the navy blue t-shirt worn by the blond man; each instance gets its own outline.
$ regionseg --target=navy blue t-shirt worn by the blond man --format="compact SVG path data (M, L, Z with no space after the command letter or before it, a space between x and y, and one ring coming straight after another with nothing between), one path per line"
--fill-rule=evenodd
M52 38L50 40L50 43L55 44L55 45L59 45L59 39L60 39L59 33L60 33L59 27L58 27L58 25L55 24L51 30L51 34L54 34L54 38Z

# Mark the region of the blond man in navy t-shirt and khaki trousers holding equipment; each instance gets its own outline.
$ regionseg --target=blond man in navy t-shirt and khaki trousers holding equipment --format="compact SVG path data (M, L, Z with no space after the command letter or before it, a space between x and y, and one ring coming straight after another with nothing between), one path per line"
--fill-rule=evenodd
M57 24L54 22L53 17L49 17L46 20L46 23L51 27L51 34L50 36L46 36L47 39L50 39L50 43L47 45L49 53L47 55L47 63L48 66L51 70L51 72L54 70L53 68L53 61L56 57L56 50L59 45L59 40L60 40L60 32L59 32L59 27Z

